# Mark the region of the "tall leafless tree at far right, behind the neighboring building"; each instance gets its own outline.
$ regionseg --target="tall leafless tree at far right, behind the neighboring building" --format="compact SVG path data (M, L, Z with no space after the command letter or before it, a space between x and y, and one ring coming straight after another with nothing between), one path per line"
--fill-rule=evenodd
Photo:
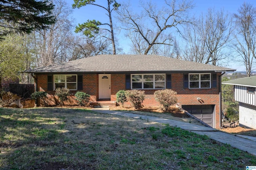
M251 75L252 63L256 59L256 8L244 2L234 14L236 32L232 45L246 67L246 74Z

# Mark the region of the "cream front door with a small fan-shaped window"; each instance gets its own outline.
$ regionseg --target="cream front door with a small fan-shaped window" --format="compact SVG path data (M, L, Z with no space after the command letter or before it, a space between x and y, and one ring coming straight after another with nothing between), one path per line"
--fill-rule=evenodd
M99 74L99 99L110 99L111 75Z

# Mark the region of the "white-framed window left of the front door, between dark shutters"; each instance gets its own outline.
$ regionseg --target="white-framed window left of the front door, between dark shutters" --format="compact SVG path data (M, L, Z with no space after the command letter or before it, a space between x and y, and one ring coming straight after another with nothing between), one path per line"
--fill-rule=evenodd
M77 75L54 75L54 90L58 87L64 87L70 90L77 90Z

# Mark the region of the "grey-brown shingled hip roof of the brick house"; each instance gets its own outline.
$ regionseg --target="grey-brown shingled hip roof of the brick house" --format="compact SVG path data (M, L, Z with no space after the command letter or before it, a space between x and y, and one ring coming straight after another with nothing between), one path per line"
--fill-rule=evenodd
M26 70L26 73L134 72L134 71L235 71L235 69L184 61L159 55L96 55L56 65Z

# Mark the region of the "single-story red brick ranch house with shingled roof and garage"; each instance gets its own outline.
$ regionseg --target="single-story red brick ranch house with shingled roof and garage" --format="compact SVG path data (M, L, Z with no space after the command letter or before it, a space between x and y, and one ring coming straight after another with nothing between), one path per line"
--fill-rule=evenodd
M36 91L48 93L47 103L56 105L57 87L74 94L83 91L90 101L116 101L119 90L142 89L143 105L159 105L154 92L172 89L178 93L179 105L208 123L220 128L220 79L225 67L183 61L158 55L96 55L25 71L35 78ZM64 104L75 105L74 95Z

